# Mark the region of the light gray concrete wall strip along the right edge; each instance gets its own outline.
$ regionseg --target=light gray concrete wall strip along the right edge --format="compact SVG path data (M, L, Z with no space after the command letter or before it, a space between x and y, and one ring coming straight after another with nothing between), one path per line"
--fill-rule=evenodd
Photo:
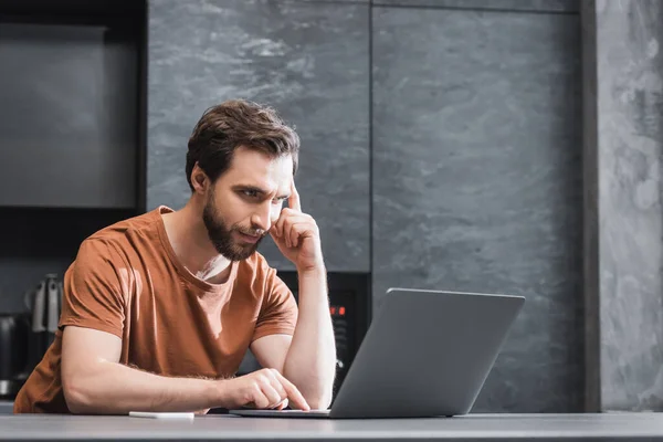
M587 1L588 407L663 410L663 4Z

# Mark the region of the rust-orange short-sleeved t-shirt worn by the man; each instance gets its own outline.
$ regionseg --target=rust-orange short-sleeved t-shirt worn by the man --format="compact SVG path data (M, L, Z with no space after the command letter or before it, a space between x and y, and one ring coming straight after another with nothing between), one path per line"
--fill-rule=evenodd
M122 338L119 362L168 377L233 376L263 336L292 335L297 305L260 253L233 262L223 284L193 276L177 259L160 207L107 227L81 244L64 275L55 340L14 401L14 413L70 412L60 362L66 326Z

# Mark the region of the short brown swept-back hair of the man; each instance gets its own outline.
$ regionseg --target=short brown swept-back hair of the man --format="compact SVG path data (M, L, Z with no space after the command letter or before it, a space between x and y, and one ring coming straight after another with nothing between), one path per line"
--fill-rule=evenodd
M189 138L187 181L198 166L214 182L232 164L238 147L261 150L273 157L291 155L297 171L299 137L276 112L265 105L231 99L208 108Z

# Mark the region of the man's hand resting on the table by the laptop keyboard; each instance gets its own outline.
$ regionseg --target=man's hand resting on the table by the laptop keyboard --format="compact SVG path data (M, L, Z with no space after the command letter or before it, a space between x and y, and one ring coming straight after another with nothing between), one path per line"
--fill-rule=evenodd
M227 409L283 409L290 402L293 408L311 410L299 390L273 368L222 380L221 390L222 407Z

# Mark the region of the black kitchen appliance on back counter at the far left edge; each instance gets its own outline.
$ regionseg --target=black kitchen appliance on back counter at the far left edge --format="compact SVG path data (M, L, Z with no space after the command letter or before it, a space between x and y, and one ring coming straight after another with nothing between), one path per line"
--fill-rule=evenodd
M0 398L11 399L22 387L25 362L28 361L28 330L30 318L27 314L0 314Z

